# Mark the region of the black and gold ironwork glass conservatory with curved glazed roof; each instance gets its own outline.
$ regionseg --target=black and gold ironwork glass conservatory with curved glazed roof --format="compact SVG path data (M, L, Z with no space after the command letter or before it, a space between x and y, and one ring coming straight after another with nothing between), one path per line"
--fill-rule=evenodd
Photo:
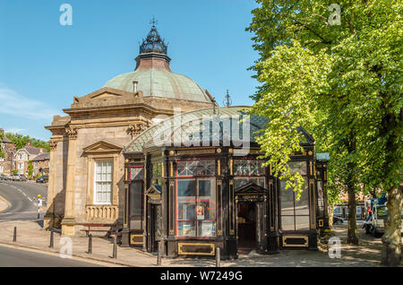
M269 122L247 107L170 117L124 147L123 246L163 255L222 258L256 250L317 249L328 226L326 162L302 128L304 151L289 162L305 180L299 200L263 167L257 131Z

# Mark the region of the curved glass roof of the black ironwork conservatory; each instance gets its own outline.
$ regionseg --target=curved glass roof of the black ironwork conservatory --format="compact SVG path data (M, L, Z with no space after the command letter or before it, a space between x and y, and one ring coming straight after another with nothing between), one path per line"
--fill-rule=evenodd
M124 146L125 152L138 152L153 146L241 146L255 142L255 134L269 120L248 116L248 106L202 108L169 117L153 125Z

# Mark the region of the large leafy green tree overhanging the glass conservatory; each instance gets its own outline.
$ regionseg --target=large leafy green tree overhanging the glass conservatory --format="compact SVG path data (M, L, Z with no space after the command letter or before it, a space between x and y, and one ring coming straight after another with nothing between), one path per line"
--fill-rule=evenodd
M270 118L258 141L275 174L300 191L302 179L287 168L300 149L297 126L324 134L332 181L347 189L349 212L365 183L388 192L382 263L401 260L402 19L393 0L257 0L247 30L261 58L262 86L253 113ZM336 159L336 160L335 160ZM357 243L356 215L348 241Z

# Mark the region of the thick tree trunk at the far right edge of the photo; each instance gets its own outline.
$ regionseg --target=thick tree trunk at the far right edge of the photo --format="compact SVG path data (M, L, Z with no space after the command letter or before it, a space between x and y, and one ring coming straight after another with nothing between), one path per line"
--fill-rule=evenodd
M399 266L401 262L401 205L402 189L388 190L388 221L382 237L382 264Z

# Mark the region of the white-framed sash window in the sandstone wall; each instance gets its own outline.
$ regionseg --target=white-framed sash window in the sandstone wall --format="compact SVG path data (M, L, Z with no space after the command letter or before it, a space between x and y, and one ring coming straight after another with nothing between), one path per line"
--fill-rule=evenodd
M110 204L112 202L112 167L113 160L95 162L94 203Z

